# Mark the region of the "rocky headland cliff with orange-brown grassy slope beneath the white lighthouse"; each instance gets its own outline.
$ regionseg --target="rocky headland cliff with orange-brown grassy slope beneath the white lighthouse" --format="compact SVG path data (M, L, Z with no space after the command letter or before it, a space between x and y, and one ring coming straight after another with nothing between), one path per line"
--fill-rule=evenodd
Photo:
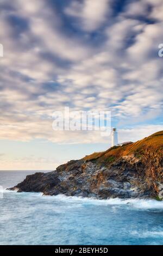
M163 184L163 131L28 175L10 190L96 198L158 198Z

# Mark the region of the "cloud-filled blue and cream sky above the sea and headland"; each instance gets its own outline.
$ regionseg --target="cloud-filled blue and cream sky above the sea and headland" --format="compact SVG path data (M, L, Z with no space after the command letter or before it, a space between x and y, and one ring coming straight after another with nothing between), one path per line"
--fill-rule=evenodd
M111 111L118 141L163 130L162 0L0 0L0 169L51 170L110 147L54 111Z

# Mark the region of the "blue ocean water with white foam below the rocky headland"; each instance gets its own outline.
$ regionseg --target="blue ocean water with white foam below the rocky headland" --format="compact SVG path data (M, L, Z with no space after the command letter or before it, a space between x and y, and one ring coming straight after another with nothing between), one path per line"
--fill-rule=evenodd
M0 245L163 244L163 202L5 190L32 173L0 172Z

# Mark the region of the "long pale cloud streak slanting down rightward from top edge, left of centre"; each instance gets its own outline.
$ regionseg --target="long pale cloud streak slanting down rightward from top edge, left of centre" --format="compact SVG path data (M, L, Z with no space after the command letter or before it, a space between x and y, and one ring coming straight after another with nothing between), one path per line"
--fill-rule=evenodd
M50 51L59 58L67 60L80 60L87 57L91 49L75 37L65 36L61 32L61 21L57 11L46 4L45 1L29 0L24 4L17 0L20 6L20 15L29 19L30 33L40 42L40 50Z

